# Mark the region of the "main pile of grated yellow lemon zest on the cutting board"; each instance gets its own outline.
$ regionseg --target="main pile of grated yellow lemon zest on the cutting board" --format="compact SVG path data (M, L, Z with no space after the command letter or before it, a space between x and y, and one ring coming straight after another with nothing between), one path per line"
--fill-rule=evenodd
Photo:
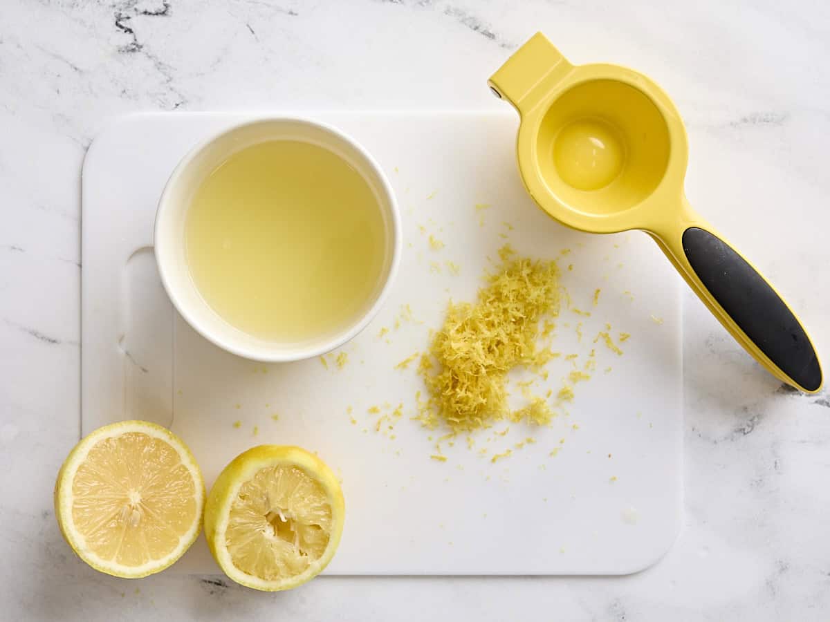
M503 262L479 290L475 304L449 304L443 327L434 334L430 353L436 373L422 359L419 371L430 393L417 417L427 427L437 414L453 433L477 430L493 420L529 420L536 425L553 417L539 398L510 411L507 372L518 366L538 367L554 357L536 347L540 320L559 313L558 276L554 261L515 259L510 245L499 250ZM517 414L520 413L520 414Z

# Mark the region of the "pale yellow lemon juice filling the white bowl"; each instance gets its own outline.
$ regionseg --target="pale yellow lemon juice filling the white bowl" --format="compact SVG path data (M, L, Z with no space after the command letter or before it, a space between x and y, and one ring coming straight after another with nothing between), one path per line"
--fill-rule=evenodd
M227 323L267 341L345 328L374 299L383 213L364 177L297 141L233 154L195 192L185 222L193 282Z

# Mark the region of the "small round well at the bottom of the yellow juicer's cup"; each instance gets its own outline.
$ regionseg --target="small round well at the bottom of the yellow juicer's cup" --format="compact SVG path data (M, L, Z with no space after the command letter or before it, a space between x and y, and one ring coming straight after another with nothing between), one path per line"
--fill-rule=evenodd
M579 119L559 130L554 163L563 181L579 190L608 186L623 170L625 151L613 127L595 119Z

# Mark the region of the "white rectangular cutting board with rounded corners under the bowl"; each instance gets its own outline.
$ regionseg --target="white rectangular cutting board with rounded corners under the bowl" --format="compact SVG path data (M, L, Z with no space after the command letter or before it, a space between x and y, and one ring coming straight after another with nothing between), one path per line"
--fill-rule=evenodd
M315 113L368 148L391 180L403 215L400 272L378 318L341 348L348 354L342 369L326 369L319 359L250 362L207 343L178 317L151 247L156 203L178 159L251 116L129 116L90 147L83 169L83 433L128 418L170 425L193 449L208 488L251 445L319 452L342 476L347 508L332 574L625 574L657 561L681 520L681 307L680 279L652 241L638 232L589 236L545 216L520 182L518 119L507 110ZM490 207L476 211L476 203ZM433 250L429 234L446 246ZM496 425L476 435L472 450L464 439L452 447L445 441L447 462L438 462L430 454L442 432L409 419L421 381L412 369L393 367L427 346L451 294L475 298L487 256L496 258L507 241L502 234L521 255L559 257L573 305L591 317L563 309L553 347L579 353L580 367L595 348L597 372L575 386L569 414L551 427L510 425L499 436L507 425ZM404 304L420 323L404 320L395 329ZM606 322L615 341L631 333L623 356L592 343ZM390 332L378 338L382 327ZM533 390L544 395L550 386L555 395L571 366L551 362L549 381ZM520 391L514 397L521 406ZM378 433L377 415L367 410L384 402L403 402L404 415L394 430ZM528 436L535 444L515 449ZM491 462L510 447L512 455ZM203 540L174 567L217 571Z

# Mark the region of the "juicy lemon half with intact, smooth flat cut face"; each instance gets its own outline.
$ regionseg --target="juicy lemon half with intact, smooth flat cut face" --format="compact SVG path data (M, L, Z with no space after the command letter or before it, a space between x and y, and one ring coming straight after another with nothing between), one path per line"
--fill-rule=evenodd
M96 570L127 578L163 571L188 550L204 500L193 454L148 421L86 436L55 484L55 516L72 550Z

